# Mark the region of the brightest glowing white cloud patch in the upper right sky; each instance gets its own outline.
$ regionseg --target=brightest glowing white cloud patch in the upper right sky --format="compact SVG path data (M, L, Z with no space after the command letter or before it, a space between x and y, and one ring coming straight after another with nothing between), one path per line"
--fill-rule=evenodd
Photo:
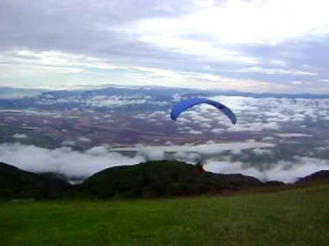
M216 47L214 44L277 44L309 33L328 33L328 8L329 3L321 0L232 0L221 5L213 2L184 16L145 18L117 28L137 34L143 42L194 54L225 57L234 53L218 45L212 48ZM211 36L211 41L191 40L188 36L193 33Z

